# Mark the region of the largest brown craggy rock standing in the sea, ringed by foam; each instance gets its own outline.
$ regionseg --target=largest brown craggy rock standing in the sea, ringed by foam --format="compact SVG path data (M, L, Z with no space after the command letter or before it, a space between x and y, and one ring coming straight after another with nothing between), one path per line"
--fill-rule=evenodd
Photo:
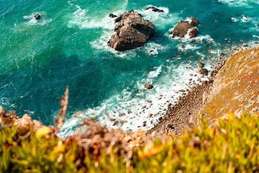
M125 12L115 26L116 34L111 36L108 45L115 50L129 50L140 47L154 35L154 24L142 18L133 10Z

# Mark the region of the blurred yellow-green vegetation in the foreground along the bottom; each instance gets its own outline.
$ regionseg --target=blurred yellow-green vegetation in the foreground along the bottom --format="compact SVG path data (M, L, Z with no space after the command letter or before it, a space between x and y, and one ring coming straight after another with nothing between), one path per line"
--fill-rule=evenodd
M98 156L62 140L50 128L0 127L0 173L259 172L259 117L229 114L201 122L179 138L158 138L122 154L115 146Z

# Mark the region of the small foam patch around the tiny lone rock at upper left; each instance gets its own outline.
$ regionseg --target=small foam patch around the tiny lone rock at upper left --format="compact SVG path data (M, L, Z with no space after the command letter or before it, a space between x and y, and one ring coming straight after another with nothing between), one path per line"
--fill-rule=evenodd
M34 15L36 13L40 14L40 19L39 20L36 20L34 18ZM34 12L31 15L23 16L23 18L26 19L26 20L29 20L29 21L25 22L26 25L30 25L30 26L32 26L32 25L40 25L40 26L43 26L43 25L46 25L46 24L48 24L48 23L50 23L52 21L52 19L46 19L45 18L46 14L47 13L45 11Z

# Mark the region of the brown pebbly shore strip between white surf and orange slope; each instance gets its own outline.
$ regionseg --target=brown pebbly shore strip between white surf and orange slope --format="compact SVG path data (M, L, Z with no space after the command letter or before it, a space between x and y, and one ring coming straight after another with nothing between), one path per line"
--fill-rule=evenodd
M183 97L179 97L177 104L170 106L166 110L166 116L161 118L160 121L154 125L151 129L148 130L149 133L152 133L154 131L159 132L161 135L163 134L171 134L173 136L181 136L185 130L188 130L193 125L199 124L198 117L200 115L207 116L207 112L203 110L203 113L201 113L201 110L206 105L206 103L210 102L212 100L212 97L216 94L218 94L215 90L221 91L221 88L223 84L221 84L222 78L225 76L222 76L222 73L225 73L227 71L225 67L226 62L232 57L238 56L239 52L255 52L258 50L258 46L254 44L255 47L252 45L250 47L243 46L239 48L239 50L233 52L228 58L226 58L222 64L219 64L217 67L217 71L213 76L209 79L209 81L202 81L201 85L195 85L190 89L190 91L187 92L186 95L183 95ZM232 49L236 50L236 49ZM246 52L246 53L247 53ZM241 56L241 55L239 55ZM244 56L245 57L245 56ZM234 62L234 63L240 63L240 62ZM223 70L221 70L223 69ZM238 69L235 69L238 71ZM220 74L219 74L220 73ZM219 87L219 88L217 88ZM216 89L215 89L216 88ZM255 105L256 106L256 105ZM254 108L255 110L256 108ZM205 112L205 113L204 113ZM239 112L235 113L242 113L242 111L239 110ZM206 114L206 115L204 115ZM224 116L224 115L221 115ZM215 117L206 117L206 118L217 118Z

